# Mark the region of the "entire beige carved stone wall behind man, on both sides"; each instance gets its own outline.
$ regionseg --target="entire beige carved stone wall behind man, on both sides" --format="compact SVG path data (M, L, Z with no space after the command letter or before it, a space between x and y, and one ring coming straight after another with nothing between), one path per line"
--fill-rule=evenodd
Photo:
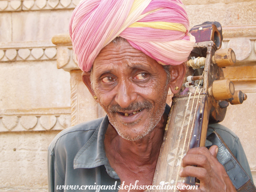
M0 1L0 191L47 191L47 148L60 130L104 114L82 85L67 36L79 0ZM183 0L191 26L219 21L248 95L222 124L239 137L256 182L256 1ZM57 46L56 46L57 45Z

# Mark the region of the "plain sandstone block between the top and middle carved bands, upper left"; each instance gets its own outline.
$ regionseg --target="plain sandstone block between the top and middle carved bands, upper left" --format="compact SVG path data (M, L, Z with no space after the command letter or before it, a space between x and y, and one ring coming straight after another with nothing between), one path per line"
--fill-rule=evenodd
M56 34L69 33L68 26L72 11L14 12L12 22L10 20L8 23L12 25L11 41L50 40ZM4 19L1 17L0 20Z

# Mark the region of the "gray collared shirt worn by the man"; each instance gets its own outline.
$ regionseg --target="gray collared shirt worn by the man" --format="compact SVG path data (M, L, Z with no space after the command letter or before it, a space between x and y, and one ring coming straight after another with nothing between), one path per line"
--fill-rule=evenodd
M167 106L165 112L168 114L169 110L170 107ZM108 117L105 116L63 130L54 138L48 148L49 191L97 191L97 185L112 186L112 189L100 191L118 191L120 179L111 168L104 149L108 124ZM239 138L220 124L211 126L252 178ZM209 130L207 135L210 133ZM66 185L66 189L62 188L63 185Z

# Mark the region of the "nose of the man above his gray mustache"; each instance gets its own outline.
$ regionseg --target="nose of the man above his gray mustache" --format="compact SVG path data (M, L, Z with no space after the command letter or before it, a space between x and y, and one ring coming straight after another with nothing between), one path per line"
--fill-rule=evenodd
M116 88L117 94L115 101L120 105L120 107L127 108L137 99L137 94L134 92L134 88L131 82L122 81Z

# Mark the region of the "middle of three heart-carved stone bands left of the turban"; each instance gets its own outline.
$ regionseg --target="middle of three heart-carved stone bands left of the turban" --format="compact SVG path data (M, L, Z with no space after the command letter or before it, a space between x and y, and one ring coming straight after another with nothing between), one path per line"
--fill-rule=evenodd
M0 62L17 60L55 60L56 52L56 47L2 48L0 49Z

